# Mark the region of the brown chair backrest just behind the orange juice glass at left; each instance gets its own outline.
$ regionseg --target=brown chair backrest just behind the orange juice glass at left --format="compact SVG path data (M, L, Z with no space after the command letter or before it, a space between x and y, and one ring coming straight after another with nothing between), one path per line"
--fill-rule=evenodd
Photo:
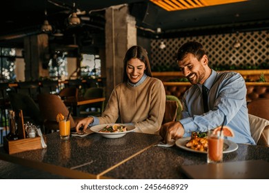
M68 108L61 101L61 98L55 94L43 93L37 96L41 116L45 121L54 121L57 126L57 114L61 113L63 116L68 116ZM75 123L70 114L70 127L74 128ZM54 128L53 128L54 129ZM52 130L53 130L52 129Z

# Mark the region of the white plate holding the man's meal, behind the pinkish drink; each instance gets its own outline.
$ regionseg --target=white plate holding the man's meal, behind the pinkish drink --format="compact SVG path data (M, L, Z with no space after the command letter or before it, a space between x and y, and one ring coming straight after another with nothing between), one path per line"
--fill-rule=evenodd
M187 150L187 151L190 151L190 152L197 152L197 153L201 153L201 154L206 154L207 152L201 152L201 151L198 151L198 150L192 150L190 148L187 148L186 147L186 143L190 140L190 137L186 137L186 138L181 138L181 139L178 139L176 141L176 145L177 147L183 149L183 150ZM235 150L238 149L238 145L237 143L234 143L232 141L229 141L227 139L224 139L224 150L223 150L223 154L227 154L227 153L230 153L230 152L234 152Z

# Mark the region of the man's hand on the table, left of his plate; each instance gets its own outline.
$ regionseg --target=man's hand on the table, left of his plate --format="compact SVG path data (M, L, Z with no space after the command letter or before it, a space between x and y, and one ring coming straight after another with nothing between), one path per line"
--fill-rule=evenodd
M163 141L168 143L172 139L182 138L184 132L183 125L179 121L172 121L161 125L159 134L163 137Z

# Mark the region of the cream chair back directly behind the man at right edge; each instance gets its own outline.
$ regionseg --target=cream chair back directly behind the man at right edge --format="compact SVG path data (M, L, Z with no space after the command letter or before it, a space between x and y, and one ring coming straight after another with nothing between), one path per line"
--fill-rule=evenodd
M257 145L269 145L269 121L259 116L248 114L250 133Z

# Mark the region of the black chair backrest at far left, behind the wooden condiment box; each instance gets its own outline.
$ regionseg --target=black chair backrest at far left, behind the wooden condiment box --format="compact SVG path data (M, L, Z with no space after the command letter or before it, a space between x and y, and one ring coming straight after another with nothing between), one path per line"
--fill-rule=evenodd
M39 106L30 96L16 92L9 92L8 96L10 105L17 117L19 117L19 111L22 110L25 121L33 121L37 125L43 124Z

